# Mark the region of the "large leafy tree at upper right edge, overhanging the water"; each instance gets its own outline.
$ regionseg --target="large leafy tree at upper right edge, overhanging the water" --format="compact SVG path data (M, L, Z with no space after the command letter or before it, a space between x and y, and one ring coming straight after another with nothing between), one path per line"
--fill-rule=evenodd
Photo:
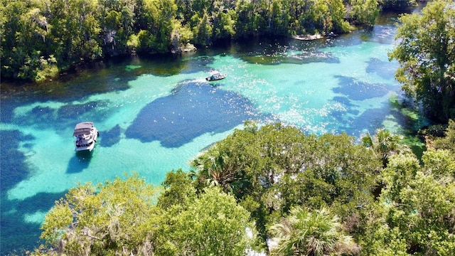
M421 14L407 14L390 58L400 63L395 77L402 89L422 102L429 117L446 121L455 107L455 5L432 1Z

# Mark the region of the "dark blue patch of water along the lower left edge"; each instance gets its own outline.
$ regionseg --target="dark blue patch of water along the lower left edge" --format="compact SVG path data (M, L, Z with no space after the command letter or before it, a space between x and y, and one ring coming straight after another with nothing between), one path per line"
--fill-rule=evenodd
M40 225L26 218L36 213L45 213L55 199L63 193L38 193L25 200L10 200L8 191L19 182L26 180L31 173L26 164L26 156L18 150L19 144L26 146L34 137L18 130L0 130L0 170L1 170L1 218L0 218L0 255L18 254L18 250L31 250L41 242ZM33 218L33 217L32 217ZM20 253L22 254L22 253Z

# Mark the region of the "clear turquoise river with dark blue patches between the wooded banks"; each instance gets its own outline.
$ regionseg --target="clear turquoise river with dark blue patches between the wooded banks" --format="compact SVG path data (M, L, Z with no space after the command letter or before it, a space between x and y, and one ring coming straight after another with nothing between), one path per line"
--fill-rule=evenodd
M181 57L111 60L65 81L1 88L1 255L39 244L39 226L68 189L131 174L155 184L248 119L309 134L360 136L405 119L389 62L395 26L318 41L235 43ZM227 73L205 82L210 71ZM92 121L100 139L75 154L73 128Z

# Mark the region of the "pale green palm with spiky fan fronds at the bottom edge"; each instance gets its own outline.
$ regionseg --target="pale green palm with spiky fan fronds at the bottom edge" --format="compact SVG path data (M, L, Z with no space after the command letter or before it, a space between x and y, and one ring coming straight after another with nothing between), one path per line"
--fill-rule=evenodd
M296 207L288 218L269 228L277 246L271 255L355 255L353 239L345 235L338 218L326 208L309 211Z

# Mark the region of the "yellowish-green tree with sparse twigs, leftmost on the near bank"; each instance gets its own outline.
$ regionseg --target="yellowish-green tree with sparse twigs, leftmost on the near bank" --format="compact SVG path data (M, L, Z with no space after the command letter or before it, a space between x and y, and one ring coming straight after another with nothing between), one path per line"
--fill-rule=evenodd
M161 211L137 175L72 188L45 216L41 238L65 255L151 255Z

